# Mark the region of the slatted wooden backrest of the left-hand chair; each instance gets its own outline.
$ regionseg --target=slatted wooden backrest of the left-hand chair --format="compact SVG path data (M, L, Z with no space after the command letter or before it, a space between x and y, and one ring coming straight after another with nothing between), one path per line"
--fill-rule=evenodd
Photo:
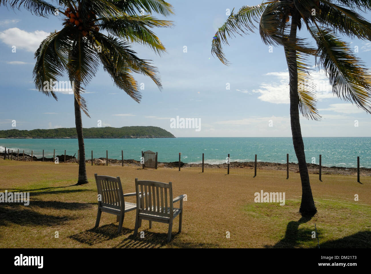
M111 177L94 174L101 206L125 210L124 194L122 192L120 177Z

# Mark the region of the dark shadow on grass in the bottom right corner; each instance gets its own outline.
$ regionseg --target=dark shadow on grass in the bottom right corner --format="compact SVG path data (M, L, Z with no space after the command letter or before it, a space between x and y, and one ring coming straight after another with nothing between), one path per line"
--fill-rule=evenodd
M371 248L371 231L359 231L341 239L327 241L320 248Z

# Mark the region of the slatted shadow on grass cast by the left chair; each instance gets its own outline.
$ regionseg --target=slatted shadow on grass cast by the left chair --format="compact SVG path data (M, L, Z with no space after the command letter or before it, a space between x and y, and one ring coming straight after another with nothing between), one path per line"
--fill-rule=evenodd
M97 228L88 229L78 234L71 235L69 238L83 244L94 245L133 231L133 229L123 227L121 233L117 234L117 229L118 225L115 224L102 225Z

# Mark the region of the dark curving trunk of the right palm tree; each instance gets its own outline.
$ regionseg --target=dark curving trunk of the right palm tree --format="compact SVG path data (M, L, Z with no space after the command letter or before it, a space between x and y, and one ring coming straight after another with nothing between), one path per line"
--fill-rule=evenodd
M294 14L292 17L292 24L290 30L290 40L296 38L297 25L295 24ZM304 142L300 127L300 113L299 113L299 95L298 95L298 70L296 63L296 50L285 47L285 55L287 65L289 67L290 78L290 119L292 142L295 149L296 157L298 158L299 173L302 184L302 200L299 212L305 216L313 216L316 212L314 205L311 185L309 183L308 167L305 161Z

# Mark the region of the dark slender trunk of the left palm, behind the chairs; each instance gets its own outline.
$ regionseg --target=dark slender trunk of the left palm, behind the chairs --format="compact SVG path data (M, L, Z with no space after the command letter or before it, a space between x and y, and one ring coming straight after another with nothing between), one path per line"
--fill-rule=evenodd
M80 92L80 82L75 81L74 92ZM82 120L81 120L81 108L74 96L75 100L75 124L77 131L77 138L79 140L79 150L80 150L80 159L79 159L79 179L76 185L83 185L88 183L88 177L86 176L86 164L85 164L85 145L84 145L84 136L82 134Z

